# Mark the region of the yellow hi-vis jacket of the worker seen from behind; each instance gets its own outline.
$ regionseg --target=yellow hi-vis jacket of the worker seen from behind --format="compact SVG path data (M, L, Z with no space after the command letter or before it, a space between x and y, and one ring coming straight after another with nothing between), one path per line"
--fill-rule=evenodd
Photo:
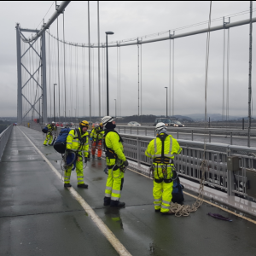
M165 152L164 156L168 158L174 158L174 154L180 154L182 148L177 143L177 140L168 135L165 140ZM162 142L159 137L154 138L149 144L145 154L150 158L161 157Z

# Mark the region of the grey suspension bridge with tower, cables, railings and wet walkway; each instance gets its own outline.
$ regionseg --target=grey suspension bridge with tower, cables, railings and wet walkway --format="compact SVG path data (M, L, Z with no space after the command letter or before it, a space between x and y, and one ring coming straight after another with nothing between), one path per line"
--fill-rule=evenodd
M167 114L174 115L175 47L178 38L207 33L207 56L212 32L224 32L222 73L222 117L229 119L230 30L252 26L256 18L212 26L211 9L207 28L191 32L160 32L140 38L100 43L99 2L97 2L98 42L90 42L90 2L88 2L88 42L79 44L65 38L64 11L70 1L55 5L55 12L41 29L16 24L17 117L0 134L0 247L3 255L254 255L256 235L256 147L251 123L247 131L189 127L169 129L183 148L175 157L184 185L185 205L193 205L204 180L203 204L189 217L164 217L154 212L150 162L145 156L155 137L150 126L119 125L129 160L125 172L122 201L125 208L103 207L106 175L104 160L90 160L84 169L89 189L63 188L61 155L44 147L42 126L49 119L75 117L77 120L109 114L108 48L116 50L117 115L123 112L125 97L121 49L137 46L137 115L147 102L143 85L143 44L169 41ZM211 3L212 6L212 3ZM241 12L242 13L242 12ZM237 14L235 14L237 15ZM62 18L62 27L59 21ZM56 23L56 34L51 26ZM195 25L194 25L195 26ZM192 28L194 26L191 26ZM60 38L59 32L62 34ZM30 36L26 36L26 32ZM250 41L250 40L249 40ZM252 41L250 47L252 48ZM97 57L97 58L96 58ZM251 58L251 55L250 55ZM208 68L207 57L206 69ZM248 61L252 64L252 59ZM249 67L249 78L251 76ZM97 75L97 79L96 79ZM248 115L251 118L249 79ZM207 72L205 86L207 113ZM107 97L106 97L107 95ZM169 114L168 114L169 113ZM37 120L37 121L34 121ZM38 124L38 120L41 124ZM57 130L57 134L61 131ZM241 143L246 140L247 143ZM236 141L236 142L235 142ZM235 142L235 143L234 143ZM207 170L201 172L206 161ZM230 162L232 165L230 165ZM75 184L74 175L71 183ZM218 213L231 221L211 218ZM182 214L185 215L185 214ZM177 215L179 216L179 215Z

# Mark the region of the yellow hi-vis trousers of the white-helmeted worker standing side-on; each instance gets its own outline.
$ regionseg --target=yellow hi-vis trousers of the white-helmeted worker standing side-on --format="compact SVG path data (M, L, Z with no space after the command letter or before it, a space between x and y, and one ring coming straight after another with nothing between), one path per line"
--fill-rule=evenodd
M105 203L110 203L110 206L117 205L121 197L121 190L123 189L125 173L120 169L113 171L108 169L108 179L105 189Z

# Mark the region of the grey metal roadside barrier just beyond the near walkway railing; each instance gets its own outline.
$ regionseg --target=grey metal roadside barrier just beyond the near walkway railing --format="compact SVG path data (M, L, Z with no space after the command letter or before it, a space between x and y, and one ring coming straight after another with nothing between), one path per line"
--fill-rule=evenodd
M203 128L174 128L174 127L166 127L167 131L169 133L172 133L173 136L177 137L177 139L181 135L185 135L186 137L191 138L191 141L195 140L195 136L201 136L206 137L206 140L208 143L212 142L212 136L218 136L218 137L230 137L230 145L232 145L233 137L238 138L245 138L249 136L250 138L256 138L256 131L251 131L248 135L247 131L244 130L231 130L231 131L219 131L216 129L210 129L204 130ZM137 135L143 135L143 136L155 136L155 128L154 127L147 127L147 126L128 126L128 125L118 125L117 130L119 133L125 133L125 134L137 134Z

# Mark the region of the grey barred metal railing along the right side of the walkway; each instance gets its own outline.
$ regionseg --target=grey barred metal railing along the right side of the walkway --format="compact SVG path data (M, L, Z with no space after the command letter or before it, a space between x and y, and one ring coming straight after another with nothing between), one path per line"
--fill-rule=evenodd
M151 160L146 157L145 151L148 148L148 143L154 137L127 134L121 134L121 136L124 140L125 156L130 160L137 161L137 169L141 172L149 173L143 167L151 165ZM200 182L204 143L185 140L177 141L183 148L181 154L177 154L174 159L177 172L180 176L191 181ZM237 172L227 169L227 157L231 155L239 156L240 168ZM205 184L214 189L225 191L228 195L247 196L247 190L250 189L247 171L253 172L256 176L255 156L256 148L207 143ZM251 183L256 183L256 180L251 181Z

